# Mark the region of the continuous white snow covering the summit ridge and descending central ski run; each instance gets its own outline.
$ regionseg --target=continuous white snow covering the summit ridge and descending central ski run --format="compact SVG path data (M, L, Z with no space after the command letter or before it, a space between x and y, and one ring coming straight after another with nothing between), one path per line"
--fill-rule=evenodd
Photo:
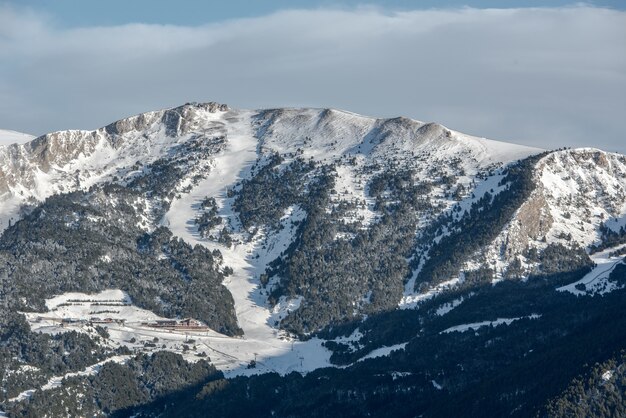
M434 186L425 196L436 208L424 215L422 223L426 225L455 203L452 190L463 185L463 193L469 194L491 170L540 151L406 118L375 119L331 109L247 111L215 103L187 104L133 116L94 131L55 132L0 148L2 228L11 218L18 218L25 204L35 205L52 194L84 190L101 182L125 184L148 164L171 160L184 146L217 136L225 138L221 151L194 155L184 162L186 174L179 179L177 193L165 199L169 210L162 219L144 219L145 228L163 225L190 244L222 253L224 264L233 269L225 284L245 333L245 341L233 339L226 345L228 354L244 362L258 356L281 372L327 364L328 354L315 339L294 347L278 332L277 321L297 309L301 298L281 299L271 306L260 286L259 276L268 263L294 240L295 229L288 226L306 213L291 207L279 231L263 230L251 237L241 229L227 192L251 177L255 163L278 153L284 158L283 165L296 157L333 165L336 193L332 204L363 201L352 216L363 217L365 226L378 216L367 191L372 178L398 167L412 170L416 181ZM444 177L446 184L442 183ZM199 235L193 220L207 197L216 199L219 216L232 229L233 245ZM147 206L150 199L146 196ZM298 356L304 353L311 364L299 365ZM270 360L277 356L283 360Z

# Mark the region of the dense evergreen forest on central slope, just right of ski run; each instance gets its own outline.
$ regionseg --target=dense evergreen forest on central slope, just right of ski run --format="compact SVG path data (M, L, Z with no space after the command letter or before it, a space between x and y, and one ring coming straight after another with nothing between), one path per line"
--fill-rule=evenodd
M282 178L279 182L283 183ZM281 326L305 335L393 309L409 273L406 259L417 223L432 209L426 198L431 187L417 181L413 172L402 169L375 176L369 189L377 199L375 209L380 218L363 227L359 220L345 220L355 209L354 203L334 203L332 199L335 167L321 167L305 194L290 201L303 208L307 216L298 225L295 241L270 263L267 271L267 280L280 278L270 289L271 302L277 303L283 296L304 297L302 306ZM327 208L331 208L330 213Z

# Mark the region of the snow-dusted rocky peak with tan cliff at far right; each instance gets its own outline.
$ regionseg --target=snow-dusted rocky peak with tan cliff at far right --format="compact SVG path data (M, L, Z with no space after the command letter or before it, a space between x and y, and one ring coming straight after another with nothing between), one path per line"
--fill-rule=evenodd
M590 250L602 245L602 228L618 233L626 225L624 155L557 151L537 163L534 176L536 190L485 251L502 276L514 260L522 261L526 275L534 272L529 250L541 253L550 244Z

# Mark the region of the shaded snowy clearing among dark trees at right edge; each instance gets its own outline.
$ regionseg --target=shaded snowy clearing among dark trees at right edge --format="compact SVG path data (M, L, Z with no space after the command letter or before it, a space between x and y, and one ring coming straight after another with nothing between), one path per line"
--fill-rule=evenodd
M609 276L618 264L624 263L624 256L611 257L610 254L616 250L624 248L626 245L609 248L599 253L593 254L591 260L596 266L582 279L575 283L559 287L559 292L570 292L575 295L603 295L613 290L621 289L617 282L610 282ZM584 286L581 286L584 285ZM576 287L582 288L577 289Z

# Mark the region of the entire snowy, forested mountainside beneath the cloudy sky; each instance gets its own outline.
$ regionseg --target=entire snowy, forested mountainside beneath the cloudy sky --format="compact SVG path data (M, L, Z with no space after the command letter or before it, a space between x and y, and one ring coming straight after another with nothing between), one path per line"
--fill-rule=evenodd
M10 415L529 416L626 348L619 154L189 103L0 147L0 192Z

